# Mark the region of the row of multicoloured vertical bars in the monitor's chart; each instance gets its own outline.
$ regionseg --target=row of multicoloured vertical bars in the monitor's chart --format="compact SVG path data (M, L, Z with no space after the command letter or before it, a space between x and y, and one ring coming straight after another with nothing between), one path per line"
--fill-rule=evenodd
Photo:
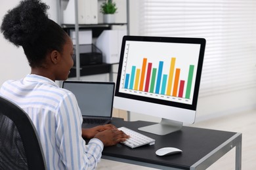
M185 73L188 75L187 80L181 80L184 78L184 73L181 68L175 68L176 58L171 58L169 68L163 68L164 61L159 61L158 67L153 67L153 65L154 63L148 62L147 58L143 58L139 68L132 65L131 73L125 74L124 88L190 99L194 65L189 65L188 74Z

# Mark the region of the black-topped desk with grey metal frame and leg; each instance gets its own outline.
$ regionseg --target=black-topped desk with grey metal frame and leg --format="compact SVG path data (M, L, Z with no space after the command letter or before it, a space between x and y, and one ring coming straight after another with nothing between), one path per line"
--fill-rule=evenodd
M116 127L125 126L135 131L138 127L155 124L152 122L125 122L121 119L112 120ZM197 127L182 127L180 131L160 136L139 131L156 139L154 145L129 148L123 144L105 147L102 158L106 160L133 163L158 169L206 169L224 154L236 147L236 169L241 169L242 134L228 131L217 131ZM172 146L180 148L182 154L156 156L159 148Z

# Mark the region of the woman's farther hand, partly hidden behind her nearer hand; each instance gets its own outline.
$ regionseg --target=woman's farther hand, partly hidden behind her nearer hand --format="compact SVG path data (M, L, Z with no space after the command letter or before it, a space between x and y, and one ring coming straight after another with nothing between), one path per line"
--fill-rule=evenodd
M116 129L116 126L112 124L105 124L105 125L100 125L100 126L95 126L89 129L84 129L82 128L82 137L87 138L87 139L92 139L95 137L95 135L101 131L107 130L107 129Z

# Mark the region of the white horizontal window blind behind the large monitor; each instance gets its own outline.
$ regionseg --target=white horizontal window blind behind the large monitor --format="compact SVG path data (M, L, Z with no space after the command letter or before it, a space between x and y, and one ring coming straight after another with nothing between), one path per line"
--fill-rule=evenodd
M139 34L206 39L200 97L256 87L255 0L142 0Z

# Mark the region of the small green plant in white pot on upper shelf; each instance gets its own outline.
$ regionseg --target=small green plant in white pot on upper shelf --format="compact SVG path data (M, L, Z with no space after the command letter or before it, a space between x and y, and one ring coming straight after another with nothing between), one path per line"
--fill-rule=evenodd
M112 0L106 0L102 5L100 5L100 12L103 14L104 23L114 23L115 22L115 13L117 7L116 3Z

